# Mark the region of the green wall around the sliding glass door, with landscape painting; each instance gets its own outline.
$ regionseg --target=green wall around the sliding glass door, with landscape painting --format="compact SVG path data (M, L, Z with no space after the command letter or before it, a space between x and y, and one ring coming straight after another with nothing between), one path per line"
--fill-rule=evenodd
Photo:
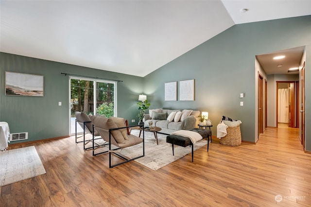
M117 114L137 120L141 77L0 53L0 121L11 133L28 132L27 141L69 135L69 76L61 73L122 80L117 84ZM44 97L5 96L5 71L44 76ZM62 106L58 106L62 102ZM23 141L14 141L18 143Z

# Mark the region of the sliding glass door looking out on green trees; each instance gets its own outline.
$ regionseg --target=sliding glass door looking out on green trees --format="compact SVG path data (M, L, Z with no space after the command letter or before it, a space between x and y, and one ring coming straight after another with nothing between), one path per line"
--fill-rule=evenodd
M70 135L75 133L75 112L116 116L116 82L70 77ZM95 86L95 92L94 92ZM95 101L94 101L95 100ZM77 125L77 133L83 129Z

